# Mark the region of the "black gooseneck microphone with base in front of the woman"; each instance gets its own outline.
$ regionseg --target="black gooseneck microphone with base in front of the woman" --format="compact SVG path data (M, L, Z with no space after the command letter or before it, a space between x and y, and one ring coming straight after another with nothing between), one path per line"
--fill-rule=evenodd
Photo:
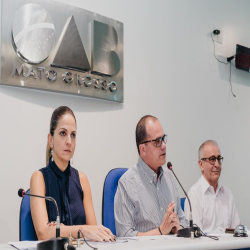
M27 194L24 189L18 190L18 195L24 197L25 195L42 198L48 201L52 201L56 206L56 238L52 238L37 244L37 250L75 250L75 247L69 245L69 239L66 237L60 237L60 216L56 200L50 196L40 196L35 194Z

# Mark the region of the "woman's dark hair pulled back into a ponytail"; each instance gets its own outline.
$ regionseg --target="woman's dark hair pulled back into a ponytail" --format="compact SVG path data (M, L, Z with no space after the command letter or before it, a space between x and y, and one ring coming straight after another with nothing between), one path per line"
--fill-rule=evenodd
M71 114L76 122L76 118L74 115L74 112L67 106L60 106L57 109L54 110L52 113L51 119L50 119L50 128L49 132L53 136L55 129L58 125L59 120L62 118L65 114ZM49 159L51 158L51 148L49 146L49 142L47 143L47 149L46 149L46 165L49 164Z

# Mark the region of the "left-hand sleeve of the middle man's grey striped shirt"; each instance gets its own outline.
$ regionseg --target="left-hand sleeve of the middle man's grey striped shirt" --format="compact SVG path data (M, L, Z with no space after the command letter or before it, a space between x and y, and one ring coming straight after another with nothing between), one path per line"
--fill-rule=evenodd
M120 179L115 195L114 212L116 235L118 237L133 237L137 236L138 233L138 231L135 230L135 206L124 185Z

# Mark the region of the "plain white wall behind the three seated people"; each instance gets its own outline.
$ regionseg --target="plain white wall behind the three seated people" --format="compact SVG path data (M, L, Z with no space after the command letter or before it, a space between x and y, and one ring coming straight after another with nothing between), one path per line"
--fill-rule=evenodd
M250 227L250 74L213 57L212 29L223 31L221 56L236 43L250 47L249 1L61 0L124 23L124 104L0 86L2 193L0 243L18 240L20 198L32 172L45 166L52 111L68 105L78 134L73 165L89 178L101 223L103 181L112 168L137 160L135 126L146 114L168 134L167 161L188 190L200 171L197 150L206 139L218 141L222 181L232 190L243 224ZM222 58L222 57L220 57ZM222 58L223 59L223 58Z

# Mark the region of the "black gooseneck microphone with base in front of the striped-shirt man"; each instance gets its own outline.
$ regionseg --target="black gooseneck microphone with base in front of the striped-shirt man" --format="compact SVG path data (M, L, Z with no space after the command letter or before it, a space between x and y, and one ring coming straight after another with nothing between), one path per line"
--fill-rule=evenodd
M176 180L178 181L179 185L181 186L184 194L186 195L187 199L188 199L188 203L189 203L189 207L190 207L190 217L189 217L189 227L188 228L182 228L179 229L177 231L177 236L178 237L185 237L185 238L189 238L191 237L192 239L194 237L200 237L200 229L198 227L193 227L193 216L192 216L192 207L191 207L191 202L189 200L189 197L186 193L186 191L184 190L184 188L182 187L180 181L178 180L177 176L175 175L174 171L173 171L173 166L171 162L167 163L167 167L169 170L172 171L172 173L174 174Z

